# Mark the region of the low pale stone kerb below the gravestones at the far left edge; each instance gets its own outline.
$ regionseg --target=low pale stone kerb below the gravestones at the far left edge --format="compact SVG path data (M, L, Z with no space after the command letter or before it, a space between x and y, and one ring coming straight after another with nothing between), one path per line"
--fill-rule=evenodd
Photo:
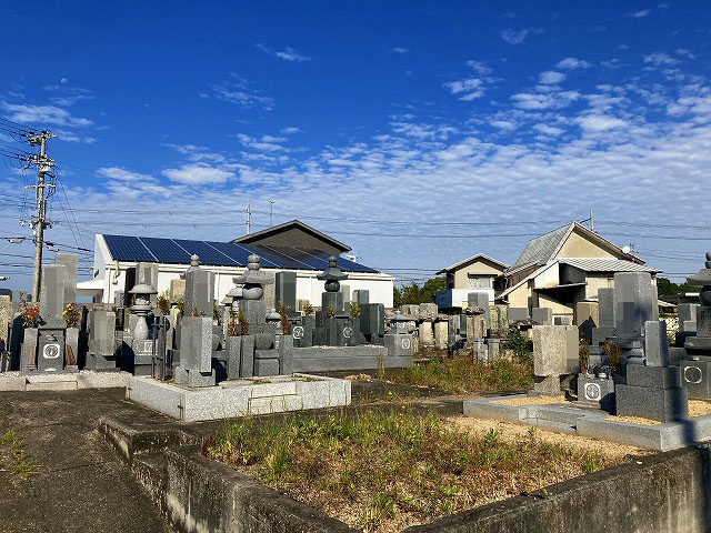
M112 389L127 386L131 374L128 372L58 372L0 374L0 391L76 391L78 389Z

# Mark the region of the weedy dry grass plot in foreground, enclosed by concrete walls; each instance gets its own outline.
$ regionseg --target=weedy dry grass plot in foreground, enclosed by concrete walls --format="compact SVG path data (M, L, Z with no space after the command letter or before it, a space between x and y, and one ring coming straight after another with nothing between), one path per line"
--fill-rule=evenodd
M469 419L473 420L473 419ZM367 532L395 532L624 461L497 422L369 411L226 426L209 457ZM479 431L481 430L481 431ZM633 451L633 449L630 449ZM624 451L627 453L627 451Z

